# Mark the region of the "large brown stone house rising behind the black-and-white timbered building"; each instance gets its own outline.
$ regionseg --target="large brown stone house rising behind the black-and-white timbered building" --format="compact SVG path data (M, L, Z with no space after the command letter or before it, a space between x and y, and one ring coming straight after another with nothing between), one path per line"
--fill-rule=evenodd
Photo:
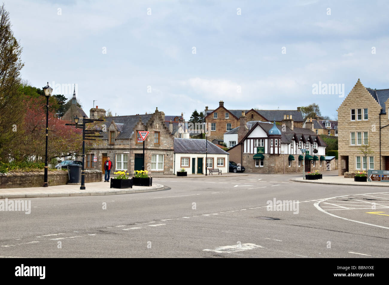
M205 122L209 126L209 140L218 140L219 143L223 142L224 133L230 131L239 126L239 118L242 112L245 112L246 117L250 121L276 121L281 123L284 119L284 115L293 117L294 126L303 126L303 117L300 112L300 107L297 110L230 110L224 107L224 102L219 101L219 107L215 110L209 110L208 106L205 107L204 115ZM229 145L226 142L227 146Z

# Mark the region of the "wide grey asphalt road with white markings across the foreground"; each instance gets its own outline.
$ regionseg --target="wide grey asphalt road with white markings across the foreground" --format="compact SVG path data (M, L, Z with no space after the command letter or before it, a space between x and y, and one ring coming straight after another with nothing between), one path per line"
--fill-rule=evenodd
M0 212L0 256L388 257L386 187L294 177L154 178L170 189L31 198L28 215ZM298 208L269 211L274 199Z

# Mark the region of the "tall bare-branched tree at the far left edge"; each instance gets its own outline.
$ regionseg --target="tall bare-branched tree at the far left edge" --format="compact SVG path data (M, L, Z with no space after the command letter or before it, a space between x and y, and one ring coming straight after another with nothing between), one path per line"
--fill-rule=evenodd
M0 7L0 160L8 162L9 153L18 144L17 131L23 120L20 70L22 47L14 37L9 12Z

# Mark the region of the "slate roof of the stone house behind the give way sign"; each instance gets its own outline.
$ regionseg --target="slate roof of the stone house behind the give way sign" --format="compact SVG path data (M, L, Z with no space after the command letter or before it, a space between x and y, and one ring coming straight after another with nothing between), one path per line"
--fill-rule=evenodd
M127 115L127 116L116 116L116 117L105 117L106 122L104 123L107 126L107 129L109 128L112 120L116 124L121 124L122 131L121 133L117 136L116 139L126 139L126 138L132 138L133 135L133 129L135 125L139 121L139 117L142 118L142 122L146 124L152 114L142 114L142 115ZM108 132L103 132L103 140L106 140L108 138Z

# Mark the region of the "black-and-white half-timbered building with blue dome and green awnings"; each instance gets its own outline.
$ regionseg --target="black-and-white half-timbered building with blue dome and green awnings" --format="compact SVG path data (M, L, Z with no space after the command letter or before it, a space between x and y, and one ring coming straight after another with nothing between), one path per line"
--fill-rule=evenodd
M230 161L241 163L247 172L296 173L305 171L325 171L326 143L307 128L276 122L249 121L242 112L238 127L238 144L228 149ZM300 149L307 149L304 156Z

